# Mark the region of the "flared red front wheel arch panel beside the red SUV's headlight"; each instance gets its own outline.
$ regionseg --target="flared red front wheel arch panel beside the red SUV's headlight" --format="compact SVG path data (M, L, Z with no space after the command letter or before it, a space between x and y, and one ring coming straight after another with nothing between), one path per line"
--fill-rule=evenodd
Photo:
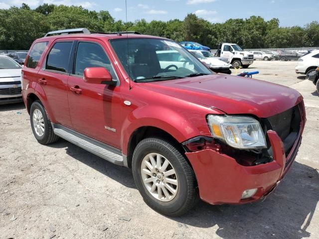
M185 116L188 117L185 117ZM164 130L178 142L198 135L206 135L209 129L204 114L173 111L162 106L144 106L132 111L124 120L121 131L123 154L127 155L132 133L142 126Z

